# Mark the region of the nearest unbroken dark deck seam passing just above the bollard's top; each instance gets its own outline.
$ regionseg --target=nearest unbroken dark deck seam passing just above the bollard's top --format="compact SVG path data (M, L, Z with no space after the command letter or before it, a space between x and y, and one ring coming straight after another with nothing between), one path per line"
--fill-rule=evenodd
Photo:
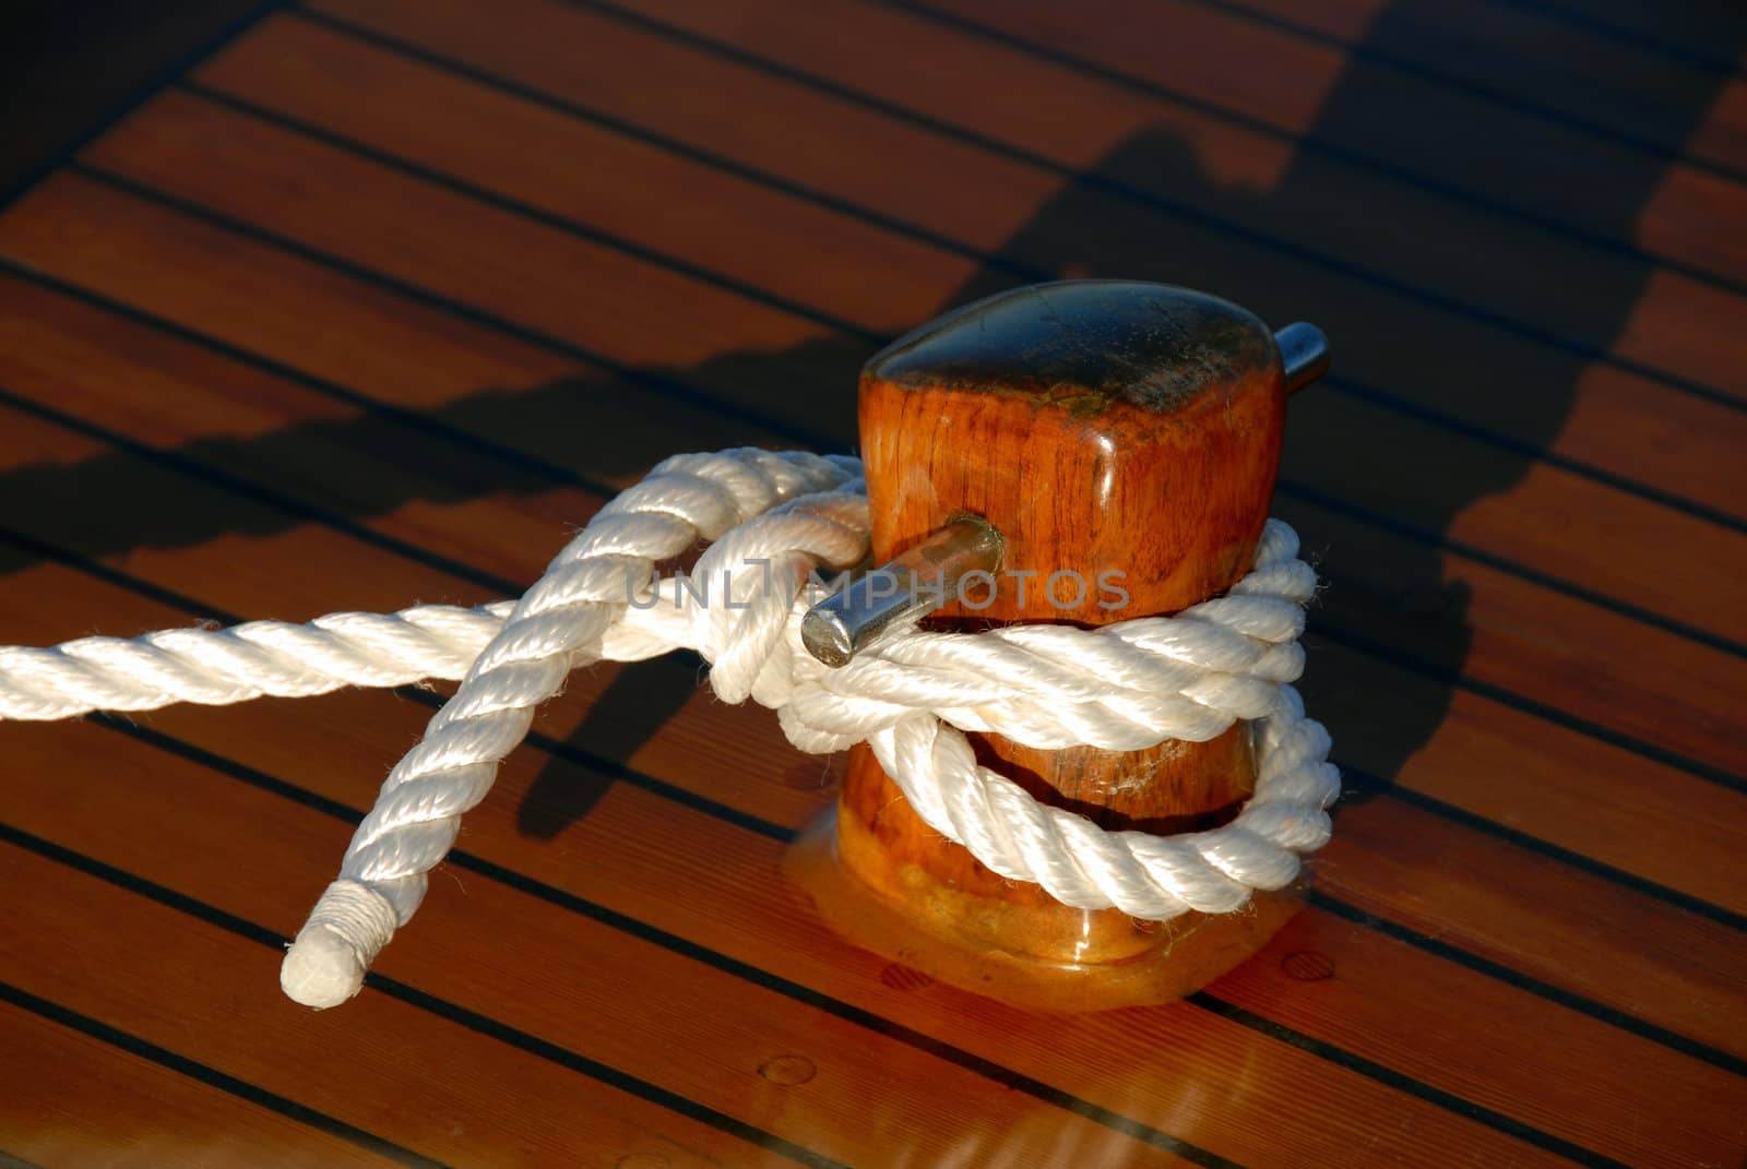
M1581 341L1581 339L1576 339L1576 337L1565 337L1562 334L1551 332L1551 330L1543 329L1539 325L1534 325L1530 322L1516 320L1515 316L1509 316L1506 313L1494 313L1494 311L1490 311L1490 309L1487 309L1483 306L1467 304L1467 302L1464 302L1460 299L1445 295L1445 294L1438 292L1436 288L1431 288L1431 287L1426 287L1426 285L1419 285L1419 283L1410 281L1410 280L1389 276L1387 273L1373 271L1373 269L1370 269L1370 267L1366 267L1363 264L1352 264L1349 260L1340 259L1338 255L1319 252L1317 248L1310 248L1310 246L1296 243L1293 239L1286 239L1286 238L1281 238L1281 236L1270 236L1267 232L1246 227L1244 224L1240 224L1237 220L1230 220L1226 217L1214 215L1212 211L1204 211L1204 210L1190 206L1186 203L1177 203L1174 199L1169 199L1164 194L1158 194L1158 192L1153 192L1153 190L1146 190L1143 187L1136 187L1132 183L1125 183L1125 182L1120 182L1120 180L1106 178L1102 175L1087 175L1083 171L1076 171L1071 166L1064 166L1060 163L1055 163L1053 159L1050 159L1046 156L1041 156L1041 154L1038 154L1034 150L1029 150L1029 149L1024 149L1024 147L1017 147L1013 143L1006 143L1006 142L991 138L987 135L982 135L982 133L977 133L977 131L971 131L971 129L964 129L961 126L954 126L950 122L943 122L943 121L940 121L940 119L936 119L933 115L928 115L928 114L917 114L914 110L907 110L907 108L903 108L900 105L894 105L891 101L886 101L882 98L875 98L872 94L861 93L860 89L853 89L849 86L844 86L840 82L833 82L833 80L819 77L816 73L807 73L804 70L798 70L798 68L790 66L790 65L783 65L781 61L774 61L770 58L762 58L762 56L758 56L755 52L746 51L746 49L739 49L739 47L734 47L734 45L728 45L728 44L723 44L723 42L716 42L716 40L713 40L709 37L704 37L701 33L694 33L690 30L680 28L680 26L674 26L674 24L667 24L667 23L659 21L655 17L650 17L650 16L645 16L645 14L639 14L639 12L631 12L627 9L620 9L620 7L613 5L613 3L608 3L606 0L564 0L564 3L570 3L571 7L583 7L583 9L592 9L592 10L599 10L599 12L615 14L615 16L622 17L625 23L653 30L653 31L657 31L657 33L660 33L660 35L664 35L669 40L674 40L678 44L697 45L701 49L709 51L715 56L723 56L727 59L734 59L734 61L739 61L742 65L749 65L749 66L758 68L760 72L765 72L765 73L769 73L772 77L781 77L781 79L791 80L791 82L795 82L795 84L798 84L802 87L816 89L819 93L830 94L830 96L839 98L842 101L847 101L847 103L853 103L853 105L874 110L874 112L877 112L877 114L880 114L880 115L884 115L884 117L887 117L891 121L905 122L905 124L912 124L912 126L919 126L919 128L928 129L928 131L931 131L931 133L935 133L935 135L938 135L942 138L950 138L950 140L956 140L956 142L963 142L966 145L977 147L977 149L985 150L989 154L996 154L999 157L1012 159L1015 163L1024 163L1024 164L1032 166L1036 169L1041 169L1041 171L1046 171L1046 173L1052 173L1052 175L1060 175L1062 178L1074 180L1074 182L1085 183L1088 187L1097 187L1101 190L1108 190L1111 194L1116 194L1116 196L1120 196L1123 199L1130 199L1130 201L1141 203L1144 206L1160 208L1160 210L1164 210L1164 211L1167 211L1170 215L1176 215L1176 217L1179 217L1183 220L1198 224L1198 225L1207 227L1211 231L1218 231L1221 234L1226 234L1226 236L1232 236L1232 238L1237 238L1237 239L1244 239L1244 241L1260 245L1260 246L1268 248L1272 252L1281 252L1284 255L1289 255L1293 259L1303 260L1307 264L1315 264L1319 267L1328 267L1329 271L1335 271L1335 273L1340 273L1343 276L1349 276L1349 278L1352 278L1352 280L1356 280L1359 283L1370 283L1370 285L1375 285L1378 288L1385 288L1389 292L1396 292L1399 295L1412 297L1412 299L1420 301L1424 304L1429 304L1433 308L1443 309L1443 311L1447 311L1450 315L1466 316L1466 318L1474 320L1474 322L1478 322L1481 325L1488 325L1492 329L1497 329L1501 332L1522 337L1525 341L1530 341L1530 342L1536 342L1536 344L1543 344L1543 346L1546 346L1550 349L1558 349L1562 353L1571 353L1574 356L1581 356L1585 360L1595 362L1599 365L1607 365L1607 367L1618 369L1621 372L1637 374L1637 376L1640 376L1640 377L1644 377L1647 381L1654 381L1654 383L1668 386L1672 390L1681 390L1681 391L1689 393L1689 395L1693 395L1696 398L1703 398L1707 402L1712 402L1716 405L1721 405L1721 407L1726 407L1726 409L1731 409L1731 411L1747 411L1747 398L1742 398L1740 395L1731 393L1728 390L1719 390L1716 386L1705 384L1705 383L1702 383L1698 379L1693 379L1693 377L1684 377L1681 374L1672 374L1668 370L1656 369L1654 365L1647 365L1644 362L1635 362L1632 358L1623 358L1623 356L1612 355L1607 349L1604 349L1600 346L1595 346L1595 344L1590 344L1586 341Z

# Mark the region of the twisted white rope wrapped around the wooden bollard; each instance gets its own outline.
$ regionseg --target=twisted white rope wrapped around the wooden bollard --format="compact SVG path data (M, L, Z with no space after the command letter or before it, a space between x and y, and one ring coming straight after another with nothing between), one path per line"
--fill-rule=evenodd
M425 896L459 818L484 799L535 708L592 661L694 648L728 702L776 708L790 741L835 751L867 739L917 814L991 870L1078 909L1165 921L1230 912L1289 884L1329 837L1340 793L1328 732L1291 688L1315 573L1291 528L1268 521L1247 577L1174 617L1095 631L1010 626L978 634L900 629L830 669L800 647L826 596L816 570L867 557L851 458L756 449L681 454L608 503L514 603L335 613L136 640L0 648L0 718L65 718L169 702L239 702L344 685L463 678L423 741L388 774L339 879L281 968L287 994L334 1006ZM681 584L655 566L713 542ZM1205 741L1249 720L1256 790L1209 832L1106 832L980 767L964 730L1036 748L1143 750Z

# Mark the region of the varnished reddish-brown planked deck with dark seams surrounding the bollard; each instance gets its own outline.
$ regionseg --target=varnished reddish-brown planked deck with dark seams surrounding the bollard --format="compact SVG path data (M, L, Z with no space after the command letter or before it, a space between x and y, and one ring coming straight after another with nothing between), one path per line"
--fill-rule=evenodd
M0 210L0 641L473 603L889 335L1315 320L1275 514L1350 795L1184 1003L1022 1012L783 882L833 799L578 674L351 1005L280 945L428 694L0 727L33 1166L1737 1166L1747 24L1635 0L314 0ZM9 112L10 114L10 112Z

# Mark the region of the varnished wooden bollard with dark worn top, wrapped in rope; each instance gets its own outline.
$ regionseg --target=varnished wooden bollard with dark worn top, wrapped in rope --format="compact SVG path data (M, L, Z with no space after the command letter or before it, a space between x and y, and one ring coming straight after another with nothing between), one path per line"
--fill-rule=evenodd
M992 596L971 587L928 619L936 629L1090 627L1218 596L1254 557L1288 390L1324 365L1314 329L1277 341L1254 315L1167 285L1038 285L949 313L861 374L874 556L889 561L966 515L999 531ZM1144 751L970 737L984 765L1106 828L1211 828L1256 781L1246 723ZM835 832L812 834L793 868L861 945L1062 1010L1186 994L1254 952L1296 903L1265 893L1240 912L1169 923L1069 909L924 825L867 744L849 757Z

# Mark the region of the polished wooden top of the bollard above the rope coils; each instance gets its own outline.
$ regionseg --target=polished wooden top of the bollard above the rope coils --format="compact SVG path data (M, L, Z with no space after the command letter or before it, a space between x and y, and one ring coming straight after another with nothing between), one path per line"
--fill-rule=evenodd
M1321 334L1291 329L1317 367ZM950 311L861 372L875 554L977 515L1006 542L980 619L1101 626L1202 601L1251 561L1288 384L1254 313L1190 288L1057 281Z

